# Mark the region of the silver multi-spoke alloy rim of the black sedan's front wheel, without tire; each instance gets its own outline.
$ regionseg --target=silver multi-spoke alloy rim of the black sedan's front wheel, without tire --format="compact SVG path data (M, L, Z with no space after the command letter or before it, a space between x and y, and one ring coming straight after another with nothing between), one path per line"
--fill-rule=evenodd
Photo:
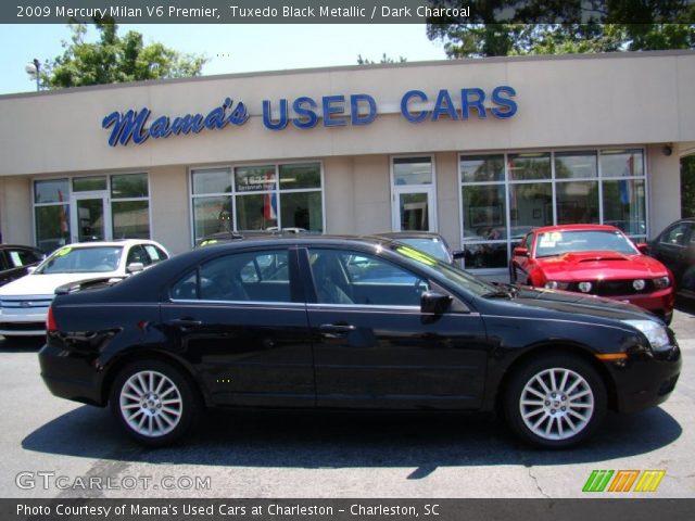
M584 378L551 368L523 386L519 411L526 427L544 440L567 440L584 430L594 414L594 393Z

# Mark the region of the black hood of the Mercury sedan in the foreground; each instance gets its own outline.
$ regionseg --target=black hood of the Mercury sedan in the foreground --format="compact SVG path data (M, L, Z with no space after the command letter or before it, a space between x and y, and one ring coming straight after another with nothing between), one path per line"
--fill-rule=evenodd
M571 291L520 287L519 293L511 302L532 308L565 313L573 318L584 315L614 320L655 319L655 315L639 306Z

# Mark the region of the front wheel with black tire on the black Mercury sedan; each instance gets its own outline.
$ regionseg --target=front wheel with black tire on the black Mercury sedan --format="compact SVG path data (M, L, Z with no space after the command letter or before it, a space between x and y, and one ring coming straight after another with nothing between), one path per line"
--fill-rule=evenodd
M503 405L507 424L521 440L541 448L568 448L585 442L598 428L606 416L607 394L601 376L586 361L570 354L542 355L515 370Z

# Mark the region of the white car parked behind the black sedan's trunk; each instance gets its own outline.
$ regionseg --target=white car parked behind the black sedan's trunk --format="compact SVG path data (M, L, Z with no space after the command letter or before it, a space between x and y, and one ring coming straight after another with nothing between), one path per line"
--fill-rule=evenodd
M0 288L0 334L46 334L48 307L56 288L87 279L127 277L168 256L161 244L139 239L62 246L33 272Z

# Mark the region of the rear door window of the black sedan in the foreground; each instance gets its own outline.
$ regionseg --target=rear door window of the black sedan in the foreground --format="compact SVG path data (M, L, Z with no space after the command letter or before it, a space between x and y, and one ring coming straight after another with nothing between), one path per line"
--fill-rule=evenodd
M287 250L245 252L200 267L203 301L291 302Z

